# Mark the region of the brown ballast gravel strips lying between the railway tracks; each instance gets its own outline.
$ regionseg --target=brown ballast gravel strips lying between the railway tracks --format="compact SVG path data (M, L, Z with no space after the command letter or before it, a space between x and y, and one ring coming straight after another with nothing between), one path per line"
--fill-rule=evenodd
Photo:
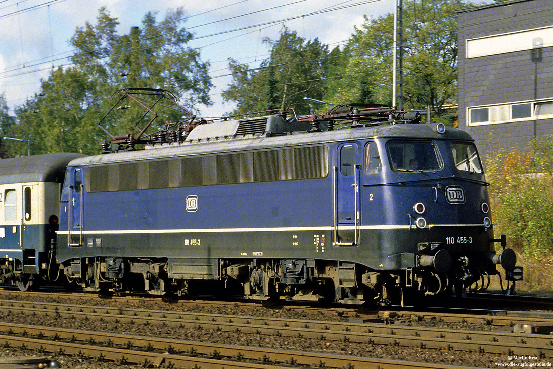
M120 307L131 309L154 309L154 310L170 310L170 311L195 311L206 314L228 314L228 315L255 315L259 317L272 317L284 319L312 319L317 321L322 320L343 320L345 318L339 315L327 315L321 313L305 313L296 312L291 309L280 308L244 308L239 303L201 307L194 304L165 303L159 298L135 298L135 299L101 299L95 294L90 297L71 296L63 294L60 296L25 296L19 293L11 293L0 291L0 299L13 299L14 301L35 301L49 302L59 304L82 304L106 307ZM324 308L321 308L324 309ZM66 329L92 330L118 334L132 334L141 336L155 336L157 338L180 339L186 341L213 342L217 344L238 345L238 346L254 346L266 347L276 350L293 350L305 352L321 352L324 354L336 355L351 355L357 357L372 357L387 360L402 360L425 363L440 363L445 365L466 366L466 367L481 367L481 368L497 368L507 364L507 366L523 365L529 366L531 363L542 362L542 365L547 367L547 363L553 360L509 360L507 355L487 355L478 354L476 352L462 351L442 351L431 349L417 349L412 347L395 347L384 345L358 344L338 341L311 340L301 338L289 338L279 336L267 336L260 334L233 334L213 330L194 330L185 328L174 328L169 326L148 325L142 324L127 324L127 323L110 323L106 321L95 320L75 320L54 317L40 317L22 314L6 314L0 312L0 320L14 324L29 324L36 326L53 326ZM446 323L443 321L409 321L401 320L396 324L412 325L412 326L439 326L445 329L466 329L466 330L488 330L489 326L482 324L464 324L464 323ZM38 354L29 350L20 350L13 348L3 348L0 351L0 357L11 356L44 356L48 354ZM97 362L94 360L80 359L71 356L51 355L48 360L59 363L60 368L75 368L75 369L128 369L142 368L141 365L117 365L113 362ZM46 366L46 367L49 367Z

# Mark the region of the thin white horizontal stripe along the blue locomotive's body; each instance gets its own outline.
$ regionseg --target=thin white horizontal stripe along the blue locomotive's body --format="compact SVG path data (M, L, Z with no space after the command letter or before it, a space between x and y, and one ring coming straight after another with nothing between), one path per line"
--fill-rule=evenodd
M434 227L473 227L483 226L482 224L429 224L428 228ZM361 230L387 230L387 229L409 229L409 225L361 225ZM411 225L415 228L415 225ZM290 227L290 228L212 228L212 229L128 229L128 230L84 230L82 234L164 234L164 233L237 233L237 232L298 232L298 231L333 231L332 226L322 227ZM355 230L352 226L340 226L338 230ZM80 233L72 231L72 234ZM68 235L67 231L58 231L59 235Z

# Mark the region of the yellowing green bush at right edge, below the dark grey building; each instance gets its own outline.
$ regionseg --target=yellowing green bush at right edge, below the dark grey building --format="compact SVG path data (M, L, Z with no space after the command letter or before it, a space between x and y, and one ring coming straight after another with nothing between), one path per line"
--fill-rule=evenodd
M553 134L535 141L530 154L517 149L488 157L495 231L527 256L553 252Z

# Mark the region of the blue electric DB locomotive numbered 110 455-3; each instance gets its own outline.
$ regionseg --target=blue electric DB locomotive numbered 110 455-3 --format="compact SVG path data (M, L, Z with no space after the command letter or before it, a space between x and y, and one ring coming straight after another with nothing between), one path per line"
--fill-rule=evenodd
M131 150L67 167L57 260L88 291L352 304L512 270L473 140L418 119L357 105L112 136Z

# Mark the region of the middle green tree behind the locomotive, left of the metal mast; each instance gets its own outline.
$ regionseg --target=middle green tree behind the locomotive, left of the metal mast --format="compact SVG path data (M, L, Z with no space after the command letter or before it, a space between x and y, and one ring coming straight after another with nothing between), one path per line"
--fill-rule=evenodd
M263 40L271 47L270 57L259 68L229 60L232 83L223 92L223 100L237 104L232 114L269 109L294 108L309 113L304 97L321 99L324 95L328 48L318 39L305 40L284 27L279 39Z

